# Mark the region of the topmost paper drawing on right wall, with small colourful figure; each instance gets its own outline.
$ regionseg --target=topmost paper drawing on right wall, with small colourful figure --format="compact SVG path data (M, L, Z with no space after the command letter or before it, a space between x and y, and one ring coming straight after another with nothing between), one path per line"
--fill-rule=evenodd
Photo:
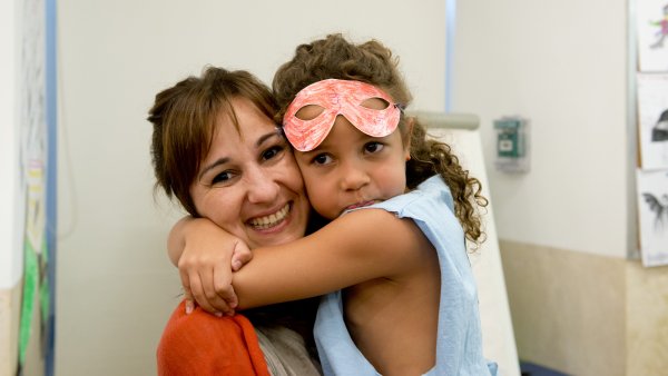
M636 1L641 72L668 72L668 0Z

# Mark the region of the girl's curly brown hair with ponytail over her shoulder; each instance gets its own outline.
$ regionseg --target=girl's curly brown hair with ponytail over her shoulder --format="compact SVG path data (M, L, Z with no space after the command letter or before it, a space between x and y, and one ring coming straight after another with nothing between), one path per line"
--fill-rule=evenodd
M397 68L399 59L376 40L361 44L347 41L342 34L331 34L312 43L301 44L294 58L274 76L273 90L282 122L287 106L306 86L324 79L363 81L382 88L397 105L405 108L412 100ZM480 209L488 205L481 194L480 180L469 175L449 145L428 137L420 119L409 121L402 115L400 129L404 141L411 140L411 159L406 162L406 184L410 189L436 174L445 181L454 199L454 214L466 239L475 245L484 240Z

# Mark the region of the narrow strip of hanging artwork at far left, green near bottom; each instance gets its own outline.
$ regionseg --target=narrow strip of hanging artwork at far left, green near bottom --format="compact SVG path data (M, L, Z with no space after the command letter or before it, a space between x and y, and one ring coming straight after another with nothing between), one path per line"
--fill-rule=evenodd
M19 2L18 88L19 176L24 202L23 277L18 334L18 374L52 375L53 304L52 229L55 212L51 146L55 145L55 2ZM51 34L49 36L48 32ZM49 93L47 93L49 92ZM51 164L50 164L51 162ZM52 172L52 171L51 171ZM52 177L52 176L51 176ZM43 368L43 373L40 372Z

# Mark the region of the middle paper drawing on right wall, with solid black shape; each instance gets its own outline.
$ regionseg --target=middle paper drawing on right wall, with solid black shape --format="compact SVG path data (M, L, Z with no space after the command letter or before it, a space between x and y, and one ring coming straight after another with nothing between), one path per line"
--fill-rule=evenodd
M637 82L640 167L668 169L668 73L638 73Z

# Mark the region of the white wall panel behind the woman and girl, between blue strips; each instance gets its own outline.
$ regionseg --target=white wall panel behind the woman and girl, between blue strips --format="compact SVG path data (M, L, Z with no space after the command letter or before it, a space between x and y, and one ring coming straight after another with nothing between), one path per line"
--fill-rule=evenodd
M331 31L401 56L414 107L444 103L443 1L58 1L57 375L155 374L178 301L165 237L178 216L151 197L154 96L205 63L269 82L294 48Z

